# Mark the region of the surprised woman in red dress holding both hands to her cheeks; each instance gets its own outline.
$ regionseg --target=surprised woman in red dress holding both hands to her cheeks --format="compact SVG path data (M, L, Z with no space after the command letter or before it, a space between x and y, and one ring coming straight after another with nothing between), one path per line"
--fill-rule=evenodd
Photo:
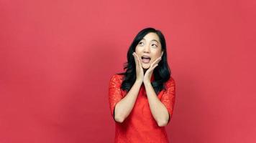
M124 69L109 82L115 142L168 143L165 126L173 115L175 82L161 31L146 28L135 36Z

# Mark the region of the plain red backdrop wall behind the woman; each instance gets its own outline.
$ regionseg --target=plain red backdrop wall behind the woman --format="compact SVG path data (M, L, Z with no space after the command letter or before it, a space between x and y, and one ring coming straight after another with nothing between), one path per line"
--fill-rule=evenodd
M172 143L256 142L255 1L0 1L0 142L113 142L110 77L147 26L176 83Z

